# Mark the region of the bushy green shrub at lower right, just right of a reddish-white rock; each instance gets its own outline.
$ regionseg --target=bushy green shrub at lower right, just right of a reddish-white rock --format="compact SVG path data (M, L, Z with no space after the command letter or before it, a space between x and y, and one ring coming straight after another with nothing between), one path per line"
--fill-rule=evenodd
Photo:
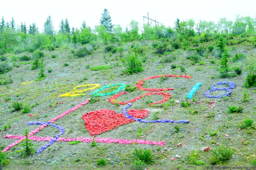
M221 164L224 161L227 161L235 152L235 150L230 147L219 146L212 151L213 157L210 159L212 165Z

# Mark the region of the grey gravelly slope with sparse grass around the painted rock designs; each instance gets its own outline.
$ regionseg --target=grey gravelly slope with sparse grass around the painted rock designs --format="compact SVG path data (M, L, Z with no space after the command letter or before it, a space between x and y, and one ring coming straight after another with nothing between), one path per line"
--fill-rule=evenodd
M163 57L159 57L154 53L151 47L151 41L138 42L146 45L148 49L144 52L147 56L146 62L143 63L144 72L138 74L126 75L123 74L124 66L119 61L118 53L107 53L106 56L109 61L103 59L104 48L94 51L94 53L85 58L75 58L71 49L57 48L54 51L43 50L45 70L51 68L52 72L45 74L47 77L41 81L33 81L37 79L39 70L30 70L31 64L21 64L15 67L12 71L2 74L3 79L9 78L13 80L12 84L1 85L1 103L0 103L0 145L4 149L15 139L8 139L4 136L7 134L23 135L24 130L27 128L30 131L39 127L39 125L27 125L29 121L44 121L47 122L52 118L60 115L61 113L73 108L82 101L88 99L91 93L95 90L85 92L85 96L76 97L58 97L61 94L72 91L73 87L82 84L100 84L110 85L115 83L124 83L135 86L136 82L141 79L165 74L177 75L191 75L191 79L185 78L167 78L160 81L160 78L145 81L143 87L147 88L167 88L172 87L174 90L168 91L172 98L163 104L148 105L148 101L157 102L162 100L160 95L146 96L142 99L133 102L129 109L147 109L150 111L145 120L152 120L154 113L160 119L170 120L189 120L188 124L179 124L182 132L175 133L174 125L172 123L140 123L132 122L115 128L114 130L104 132L97 135L97 137L108 137L118 139L144 139L151 141L165 141L166 145L144 145L144 144L118 144L118 143L99 143L93 147L90 143L78 143L76 145L69 145L69 142L55 142L52 146L40 154L34 154L29 157L23 158L16 151L21 149L17 145L7 151L10 156L9 168L16 167L16 165L29 166L30 169L35 167L39 168L73 168L87 167L88 169L96 167L96 160L104 158L108 162L108 168L113 169L127 169L134 159L131 157L131 151L134 148L151 149L154 158L154 164L158 168L163 169L177 165L189 165L187 155L190 155L193 150L200 152L202 147L210 147L210 151L200 153L198 159L202 160L205 165L209 164L209 158L212 156L212 150L218 145L230 146L236 150L231 159L225 163L227 165L248 165L250 160L255 158L255 130L254 129L241 129L239 130L238 124L245 118L252 118L255 120L256 111L256 88L246 89L249 93L250 100L242 102L242 92L244 89L244 81L246 72L243 71L239 76L232 78L219 78L216 68L219 67L218 62L220 59L216 58L209 53L208 57L202 57L204 64L191 65L191 61L186 59L189 52L183 49L174 50L167 56L174 57L171 63L161 63ZM124 55L130 49L132 43L122 44L124 47ZM209 44L200 44L203 46ZM256 49L247 44L235 45L235 50L229 50L232 56L235 53L244 53L247 56L255 56ZM52 58L54 54L57 57ZM6 54L10 56L13 54ZM24 52L19 54L32 56L31 53ZM205 54L206 55L206 54ZM118 60L116 60L118 59ZM212 64L210 61L215 60ZM17 62L18 64L19 62ZM69 66L63 66L68 63ZM98 65L112 65L113 68L109 70L91 71L90 68ZM118 63L118 64L117 64ZM180 68L172 69L171 65L185 67L186 71L181 72ZM239 63L237 63L239 64ZM240 62L242 65L242 62ZM230 62L230 65L232 63ZM87 78L87 79L86 79ZM86 80L85 80L86 79ZM23 84L24 82L33 81L31 84ZM232 93L227 98L207 98L204 96L209 87L215 83L231 81L236 84L232 89ZM182 107L180 102L184 100L186 94L197 83L203 83L202 86L196 91L194 95L196 102L189 107ZM217 85L216 87L227 87L226 85ZM122 90L121 92L123 92ZM133 92L128 92L118 98L119 101L128 101L135 97L141 96L149 91L142 91L136 89ZM222 95L226 93L224 90L216 90L210 93L212 96ZM117 105L108 102L111 96L100 97L100 101L96 103L85 104L75 112L57 120L55 123L65 128L65 133L61 137L91 137L85 129L82 115L86 112L99 110L102 108L111 109L117 113L121 113L123 107L126 105ZM172 100L174 99L174 100ZM32 107L30 113L21 114L20 111L12 112L12 103L14 101L22 101ZM189 99L192 101L192 99ZM211 102L213 106L211 107ZM228 106L241 105L244 109L242 113L228 113ZM29 117L29 114L35 116ZM213 117L209 115L214 115ZM3 130L4 125L11 123L11 128ZM141 130L141 131L140 131ZM215 136L210 136L208 130L213 132L218 131ZM52 127L47 126L42 131L38 132L36 136L52 136L54 137L59 131ZM141 132L141 133L139 133ZM228 135L226 137L225 135ZM242 140L246 141L242 142ZM181 146L178 144L181 143ZM33 141L36 144L35 149L39 149L46 144L45 141ZM179 157L175 157L179 155ZM171 158L175 157L175 160ZM47 166L46 166L47 165ZM148 167L149 168L149 167ZM105 167L106 169L106 167Z

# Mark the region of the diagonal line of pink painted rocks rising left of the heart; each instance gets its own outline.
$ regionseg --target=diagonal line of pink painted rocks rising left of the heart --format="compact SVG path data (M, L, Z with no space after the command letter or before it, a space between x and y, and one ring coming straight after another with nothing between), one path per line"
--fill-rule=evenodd
M67 114L70 114L71 112L75 111L76 109L78 109L79 107L89 103L91 99L87 99L85 102L82 102L80 103L79 105L76 105L75 107L69 109L68 111L66 112L63 112L62 114L60 114L59 116L56 116L55 118L51 119L49 122L53 123L55 122L57 119L59 118L62 118L63 116L67 115ZM44 124L44 125L41 125L39 128L31 131L29 134L28 134L28 137L31 138L31 136L33 136L35 133L39 132L39 130L45 128L47 125ZM10 136L10 135L6 135L6 136ZM5 137L6 137L5 136ZM25 139L25 136L21 136L20 138L14 138L14 139L19 139L17 141L15 141L14 143L12 143L11 145L9 145L8 147L6 147L4 150L2 150L2 152L6 152L8 151L10 148L14 147L15 145L17 145L19 142L23 141ZM52 138L51 138L52 139Z

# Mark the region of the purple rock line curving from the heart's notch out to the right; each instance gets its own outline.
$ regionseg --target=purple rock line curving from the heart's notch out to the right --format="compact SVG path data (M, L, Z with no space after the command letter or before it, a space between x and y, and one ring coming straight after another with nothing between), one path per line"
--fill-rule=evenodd
M138 118L133 117L132 115L129 115L128 112L126 111L126 109L129 108L131 105L132 105L131 103L127 103L127 106L125 106L123 108L123 111L122 111L122 113L128 119L133 119L133 120L136 120L136 121L142 122L142 123L150 123L150 122L153 122L153 123L156 123L156 122L161 122L161 123L189 123L189 120L170 120L170 119L142 120L142 119L138 119Z

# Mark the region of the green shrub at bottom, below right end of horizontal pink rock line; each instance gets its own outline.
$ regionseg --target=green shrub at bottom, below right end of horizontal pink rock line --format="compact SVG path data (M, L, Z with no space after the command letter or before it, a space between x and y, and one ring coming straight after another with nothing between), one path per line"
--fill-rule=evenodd
M135 148L132 154L136 157L137 160L141 160L141 162L144 162L146 165L150 165L153 163L152 152L150 149L138 150L137 148Z

